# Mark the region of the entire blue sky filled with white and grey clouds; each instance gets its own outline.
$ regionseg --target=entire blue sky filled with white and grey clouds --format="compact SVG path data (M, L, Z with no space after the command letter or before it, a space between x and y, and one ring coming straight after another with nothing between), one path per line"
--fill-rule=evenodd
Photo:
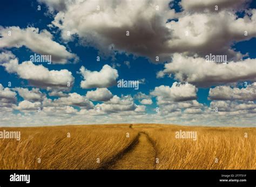
M0 17L0 126L256 127L255 1L11 0Z

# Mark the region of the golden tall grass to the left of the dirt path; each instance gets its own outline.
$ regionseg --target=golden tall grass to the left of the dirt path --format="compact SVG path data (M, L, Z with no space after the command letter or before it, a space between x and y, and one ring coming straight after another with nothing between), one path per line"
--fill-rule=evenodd
M0 139L0 169L98 169L137 136L129 125L0 128L3 130L21 131L21 141ZM126 138L127 132L130 138Z

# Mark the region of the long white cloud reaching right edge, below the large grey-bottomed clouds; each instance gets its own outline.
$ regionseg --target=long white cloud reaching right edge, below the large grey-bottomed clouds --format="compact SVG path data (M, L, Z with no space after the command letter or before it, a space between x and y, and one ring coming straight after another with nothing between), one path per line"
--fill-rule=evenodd
M172 74L180 82L189 82L201 87L221 83L256 80L256 59L245 59L238 62L206 62L203 57L187 57L174 54L173 60L165 64L160 74ZM158 74L159 75L159 74Z

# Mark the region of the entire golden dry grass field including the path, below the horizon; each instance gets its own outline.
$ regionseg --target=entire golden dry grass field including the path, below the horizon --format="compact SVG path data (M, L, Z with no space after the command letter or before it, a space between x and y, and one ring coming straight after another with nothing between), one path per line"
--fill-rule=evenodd
M114 124L3 130L21 131L21 140L0 139L0 169L256 169L256 128ZM196 131L197 140L176 139L180 130Z

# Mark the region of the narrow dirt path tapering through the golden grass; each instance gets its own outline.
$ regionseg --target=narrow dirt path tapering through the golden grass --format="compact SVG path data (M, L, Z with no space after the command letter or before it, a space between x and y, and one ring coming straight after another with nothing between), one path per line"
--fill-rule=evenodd
M108 169L154 169L155 151L148 136L139 133L138 142Z

